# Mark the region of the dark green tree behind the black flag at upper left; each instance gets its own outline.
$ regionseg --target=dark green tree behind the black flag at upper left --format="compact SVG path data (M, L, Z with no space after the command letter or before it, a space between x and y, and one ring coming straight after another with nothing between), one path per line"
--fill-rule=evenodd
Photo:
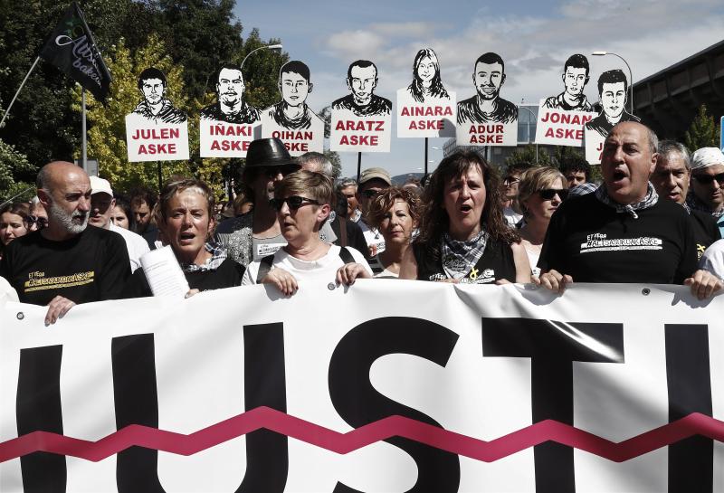
M154 24L152 2L134 0L85 0L81 10L99 45L107 48L119 36L138 40ZM60 22L70 1L33 0L0 2L0 106L5 108L20 87L52 29ZM129 44L127 44L129 45ZM53 159L71 159L80 147L81 120L71 109L74 82L50 63L38 62L18 100L10 110L0 137L28 157L34 166ZM34 176L17 175L34 180Z

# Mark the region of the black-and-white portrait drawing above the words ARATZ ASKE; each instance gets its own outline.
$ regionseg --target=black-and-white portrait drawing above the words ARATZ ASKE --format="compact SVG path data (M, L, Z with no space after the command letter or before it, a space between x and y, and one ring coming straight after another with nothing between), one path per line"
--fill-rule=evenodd
M377 96L377 67L367 60L349 65L347 87L350 93L332 102L332 109L346 109L357 117L386 116L392 113L392 101Z

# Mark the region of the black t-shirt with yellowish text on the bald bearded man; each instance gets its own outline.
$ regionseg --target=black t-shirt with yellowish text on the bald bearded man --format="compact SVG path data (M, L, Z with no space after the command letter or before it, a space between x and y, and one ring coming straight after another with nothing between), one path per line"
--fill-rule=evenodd
M129 251L117 232L88 226L53 242L32 232L11 242L0 262L23 303L47 305L55 296L77 304L119 299L130 276Z

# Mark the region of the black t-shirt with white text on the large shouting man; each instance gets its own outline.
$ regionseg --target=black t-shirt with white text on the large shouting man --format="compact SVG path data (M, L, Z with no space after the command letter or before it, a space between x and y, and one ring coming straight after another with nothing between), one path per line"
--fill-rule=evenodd
M617 213L595 194L568 199L550 220L538 267L569 274L574 282L681 284L697 266L689 215L660 200Z

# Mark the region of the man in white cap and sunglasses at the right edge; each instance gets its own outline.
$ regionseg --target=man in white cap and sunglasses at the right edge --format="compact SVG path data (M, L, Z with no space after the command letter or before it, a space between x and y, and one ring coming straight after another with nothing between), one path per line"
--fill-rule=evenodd
M691 191L686 203L710 213L724 236L724 154L717 147L701 147L691 156Z

